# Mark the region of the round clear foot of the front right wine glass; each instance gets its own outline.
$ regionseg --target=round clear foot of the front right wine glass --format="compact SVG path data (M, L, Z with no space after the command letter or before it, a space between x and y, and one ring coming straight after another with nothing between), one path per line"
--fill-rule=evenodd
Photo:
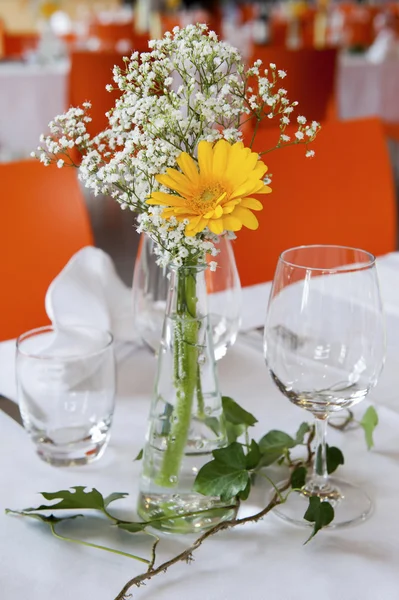
M339 490L340 498L330 500L330 504L334 508L334 520L328 525L328 528L345 527L364 521L370 516L373 503L361 488L335 477L329 478L329 483ZM280 487L280 484L278 487ZM300 491L291 492L286 502L277 506L273 513L280 519L294 525L313 527L313 523L309 523L303 518L309 506L308 498Z

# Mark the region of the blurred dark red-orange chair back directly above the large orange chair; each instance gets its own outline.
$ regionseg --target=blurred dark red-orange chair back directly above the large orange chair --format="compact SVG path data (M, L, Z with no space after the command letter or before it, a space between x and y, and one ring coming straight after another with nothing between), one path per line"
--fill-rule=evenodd
M259 58L263 69L274 63L277 69L287 72L287 78L280 80L281 87L287 90L291 102L299 102L297 114L315 121L335 118L336 48L254 46L250 63ZM264 119L261 127L269 124Z

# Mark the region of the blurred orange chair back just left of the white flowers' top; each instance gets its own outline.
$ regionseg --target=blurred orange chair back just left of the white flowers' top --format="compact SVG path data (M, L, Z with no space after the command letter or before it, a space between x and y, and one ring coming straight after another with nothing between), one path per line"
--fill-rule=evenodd
M114 106L119 93L108 92L105 86L114 84L112 69L114 65L124 66L123 56L113 51L71 53L68 105L81 106L86 101L92 103L89 111L92 121L87 124L91 135L97 135L108 126L105 113Z

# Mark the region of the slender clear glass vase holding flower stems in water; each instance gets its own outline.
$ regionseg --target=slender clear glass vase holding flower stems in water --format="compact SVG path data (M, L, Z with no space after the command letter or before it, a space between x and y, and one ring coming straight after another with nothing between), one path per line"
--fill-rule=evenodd
M193 491L212 451L227 444L207 310L206 265L170 267L158 372L143 454L138 512L175 533L234 516ZM179 516L181 515L181 516Z

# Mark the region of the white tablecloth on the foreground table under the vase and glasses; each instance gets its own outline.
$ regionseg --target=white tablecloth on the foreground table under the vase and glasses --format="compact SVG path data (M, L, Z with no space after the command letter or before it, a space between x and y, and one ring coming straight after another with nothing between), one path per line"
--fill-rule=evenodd
M342 448L346 464L341 476L362 485L375 501L366 522L321 532L304 546L308 531L269 515L208 540L194 564L178 564L166 575L134 591L143 600L397 600L399 597L399 254L380 261L380 278L388 322L388 359L380 383L371 394L380 425L375 448L367 452L361 430L329 431L329 442ZM263 321L269 286L246 290L244 306ZM249 325L248 317L244 321ZM0 392L15 394L14 344L0 344ZM37 506L37 492L73 485L102 493L129 492L115 503L133 517L140 465L133 462L143 444L156 362L138 351L120 367L112 438L105 455L90 466L56 469L40 461L24 430L0 412L0 597L1 600L113 600L122 585L143 571L140 563L54 539L40 523L6 516L6 507ZM221 388L259 418L254 437L279 428L294 433L310 415L294 407L273 386L263 357L238 341L219 363ZM361 415L367 402L356 408ZM259 489L243 510L264 502ZM149 541L115 531L112 538L94 534L90 522L77 521L75 534L96 543L108 542L144 555ZM182 550L184 536L167 536L160 559Z

